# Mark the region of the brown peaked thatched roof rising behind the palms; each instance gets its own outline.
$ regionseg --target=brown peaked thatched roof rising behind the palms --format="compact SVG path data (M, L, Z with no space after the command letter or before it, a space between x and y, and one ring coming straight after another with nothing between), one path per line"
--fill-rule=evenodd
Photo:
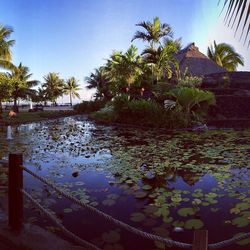
M195 76L227 71L202 54L194 43L179 51L175 55L175 58L179 61L181 72L184 72L188 68L188 71Z

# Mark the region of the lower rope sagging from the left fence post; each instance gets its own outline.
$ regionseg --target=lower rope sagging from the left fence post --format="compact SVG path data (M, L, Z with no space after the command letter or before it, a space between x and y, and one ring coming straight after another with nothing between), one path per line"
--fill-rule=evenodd
M52 222L54 222L66 235L68 235L70 238L72 238L75 242L79 243L80 245L86 247L90 250L101 250L97 246L83 240L82 238L78 237L74 233L70 232L68 229L66 229L62 223L52 214L49 212L48 209L41 206L30 194L28 194L25 190L21 190L25 197L27 197L36 207L39 208L39 210L44 213Z

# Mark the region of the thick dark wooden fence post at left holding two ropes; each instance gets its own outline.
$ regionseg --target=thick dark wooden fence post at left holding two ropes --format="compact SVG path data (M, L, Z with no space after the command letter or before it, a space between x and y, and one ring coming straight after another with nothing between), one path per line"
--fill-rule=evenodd
M9 154L9 226L20 231L23 220L23 164L22 154Z

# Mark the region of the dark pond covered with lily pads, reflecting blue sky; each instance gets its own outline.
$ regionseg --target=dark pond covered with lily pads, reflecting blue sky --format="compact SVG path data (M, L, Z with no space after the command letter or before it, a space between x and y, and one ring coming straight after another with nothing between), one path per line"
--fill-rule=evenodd
M186 243L194 229L207 229L209 243L250 232L250 130L166 134L80 116L13 130L8 141L6 128L0 131L0 159L23 153L32 171L129 225ZM165 249L80 209L28 174L24 183L69 230L102 249ZM61 234L28 201L25 208L26 221ZM247 239L225 249L249 246Z

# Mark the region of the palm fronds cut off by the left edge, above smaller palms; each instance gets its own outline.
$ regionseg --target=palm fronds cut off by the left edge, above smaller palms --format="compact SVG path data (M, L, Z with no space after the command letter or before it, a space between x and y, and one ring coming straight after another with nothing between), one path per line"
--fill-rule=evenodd
M13 69L10 47L15 40L8 40L12 32L12 28L0 24L0 67L6 69Z

